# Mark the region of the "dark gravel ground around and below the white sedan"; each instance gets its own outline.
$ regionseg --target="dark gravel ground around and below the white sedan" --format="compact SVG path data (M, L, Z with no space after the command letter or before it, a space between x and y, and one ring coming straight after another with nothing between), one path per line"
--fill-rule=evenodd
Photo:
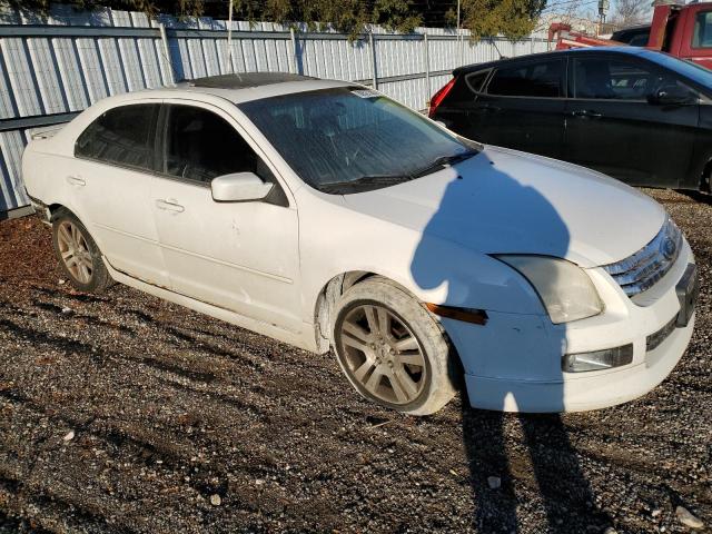
M692 344L647 396L565 416L400 416L329 355L78 294L38 219L1 222L0 534L690 532L681 505L711 525L712 204L645 192L701 267Z

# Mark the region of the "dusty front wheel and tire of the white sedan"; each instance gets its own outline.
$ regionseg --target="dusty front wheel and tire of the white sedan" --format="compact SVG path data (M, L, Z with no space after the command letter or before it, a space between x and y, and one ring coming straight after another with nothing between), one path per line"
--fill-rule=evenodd
M428 415L455 395L456 356L439 324L386 278L367 278L342 295L332 339L352 386L382 406Z

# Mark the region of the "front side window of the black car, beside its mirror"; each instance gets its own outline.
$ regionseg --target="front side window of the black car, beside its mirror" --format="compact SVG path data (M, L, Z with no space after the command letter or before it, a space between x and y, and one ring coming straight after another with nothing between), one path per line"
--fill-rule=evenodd
M645 100L661 87L674 85L674 77L637 61L605 57L573 60L574 98Z

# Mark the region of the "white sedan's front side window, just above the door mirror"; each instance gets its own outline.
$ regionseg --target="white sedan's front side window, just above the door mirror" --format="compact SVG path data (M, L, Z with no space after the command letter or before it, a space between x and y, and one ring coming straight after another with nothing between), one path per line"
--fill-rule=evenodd
M263 179L269 172L231 125L192 106L168 108L164 171L206 184L231 172L256 172Z

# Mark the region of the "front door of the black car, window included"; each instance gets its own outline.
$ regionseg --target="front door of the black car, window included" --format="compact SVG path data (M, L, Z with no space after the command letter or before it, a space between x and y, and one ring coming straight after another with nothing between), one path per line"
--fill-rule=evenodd
M684 83L641 58L573 53L564 158L631 185L678 187L688 174L699 105L649 102Z

